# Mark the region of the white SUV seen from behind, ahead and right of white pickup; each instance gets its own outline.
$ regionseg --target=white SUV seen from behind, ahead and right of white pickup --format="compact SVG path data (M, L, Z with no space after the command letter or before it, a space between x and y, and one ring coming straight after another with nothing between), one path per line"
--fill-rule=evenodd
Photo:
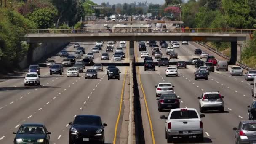
M224 112L224 96L221 96L219 91L205 91L199 99L199 111L205 112L207 110L219 110Z

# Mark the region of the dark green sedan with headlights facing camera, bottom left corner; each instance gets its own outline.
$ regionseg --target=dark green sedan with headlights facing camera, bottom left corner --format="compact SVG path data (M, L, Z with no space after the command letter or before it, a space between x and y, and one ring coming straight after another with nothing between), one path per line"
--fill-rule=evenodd
M50 134L42 123L21 124L15 134L14 144L50 144Z

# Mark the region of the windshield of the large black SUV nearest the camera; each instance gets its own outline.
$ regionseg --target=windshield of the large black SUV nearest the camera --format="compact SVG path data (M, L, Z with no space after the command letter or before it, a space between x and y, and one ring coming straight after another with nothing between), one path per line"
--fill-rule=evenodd
M73 125L102 125L99 117L93 116L77 116Z

